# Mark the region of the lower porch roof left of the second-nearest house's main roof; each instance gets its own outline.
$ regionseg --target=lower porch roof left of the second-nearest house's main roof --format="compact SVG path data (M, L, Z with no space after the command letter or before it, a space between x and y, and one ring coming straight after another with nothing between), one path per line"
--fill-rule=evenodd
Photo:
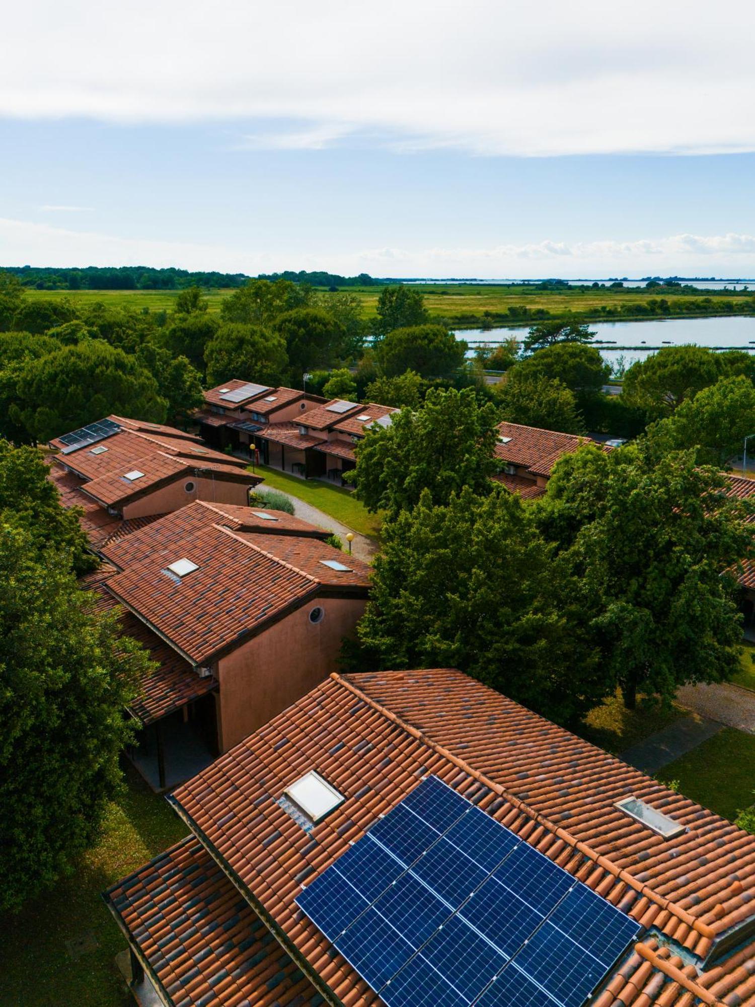
M212 692L217 682L212 676L200 678L187 661L116 601L106 585L117 573L110 563L103 563L99 570L83 577L81 583L95 592L98 611L116 611L122 634L141 643L150 661L157 663L157 669L144 679L140 695L129 707L147 725Z

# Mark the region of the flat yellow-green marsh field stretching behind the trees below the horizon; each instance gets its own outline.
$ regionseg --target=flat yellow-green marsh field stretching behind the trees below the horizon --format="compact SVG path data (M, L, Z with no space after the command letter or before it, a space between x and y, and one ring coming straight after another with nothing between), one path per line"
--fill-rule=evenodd
M362 302L365 318L373 317L381 287L346 287L348 293L356 294ZM650 317L695 316L696 314L751 314L755 311L755 298L749 293L716 292L713 303L706 291L691 294L671 291L644 290L537 290L533 286L488 286L480 284L446 284L443 286L417 284L414 289L425 295L425 304L436 318L449 320L459 327L476 327L482 324L526 324L527 318L509 316L509 309L526 308L528 312L547 311L552 318L580 318L598 320L600 318L622 318L631 320L643 315L627 313L649 300L664 298L667 309ZM220 302L232 290L211 290L207 292L209 310L219 310ZM68 297L73 303L91 304L102 301L106 304L123 305L137 310L170 311L178 296L177 291L166 290L82 290L49 291L26 289L30 298ZM706 303L702 303L706 301Z

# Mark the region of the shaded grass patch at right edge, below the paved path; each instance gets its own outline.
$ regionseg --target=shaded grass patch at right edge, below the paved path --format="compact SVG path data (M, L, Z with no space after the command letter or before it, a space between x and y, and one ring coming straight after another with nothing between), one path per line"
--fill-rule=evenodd
M755 801L755 735L725 727L657 775L678 780L680 793L733 821Z

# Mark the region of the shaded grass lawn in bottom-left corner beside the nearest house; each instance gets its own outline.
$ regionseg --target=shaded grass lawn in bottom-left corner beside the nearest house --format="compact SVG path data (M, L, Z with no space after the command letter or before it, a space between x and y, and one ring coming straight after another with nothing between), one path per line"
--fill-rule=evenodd
M76 873L24 907L0 917L0 1004L22 1007L125 1007L132 1003L114 958L126 947L100 892L186 835L164 798L126 769L127 790L111 805L100 844ZM94 939L78 959L66 942Z

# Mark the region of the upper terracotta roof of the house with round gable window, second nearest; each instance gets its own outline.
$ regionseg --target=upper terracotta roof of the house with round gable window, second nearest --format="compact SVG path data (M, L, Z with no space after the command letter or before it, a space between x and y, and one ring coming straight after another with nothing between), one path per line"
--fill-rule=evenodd
M208 664L324 590L366 596L369 568L354 557L350 571L333 571L319 560L343 554L316 538L237 533L216 517L190 503L103 550L121 570L108 589L192 663ZM166 572L183 558L198 569Z

